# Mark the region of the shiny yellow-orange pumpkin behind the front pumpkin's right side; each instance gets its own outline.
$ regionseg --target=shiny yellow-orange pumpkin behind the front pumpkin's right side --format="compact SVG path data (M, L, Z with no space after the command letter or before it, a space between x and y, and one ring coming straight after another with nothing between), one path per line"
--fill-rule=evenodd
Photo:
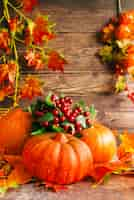
M81 134L81 140L91 149L95 163L111 161L116 155L116 139L107 127L95 123L91 128L84 129Z

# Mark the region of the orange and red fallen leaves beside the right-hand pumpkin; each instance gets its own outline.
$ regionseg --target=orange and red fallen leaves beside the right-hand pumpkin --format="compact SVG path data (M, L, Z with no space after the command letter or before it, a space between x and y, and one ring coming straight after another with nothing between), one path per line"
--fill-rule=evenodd
M92 177L96 182L102 183L104 177L112 173L120 175L134 173L134 135L125 132L120 138L117 161L94 166Z

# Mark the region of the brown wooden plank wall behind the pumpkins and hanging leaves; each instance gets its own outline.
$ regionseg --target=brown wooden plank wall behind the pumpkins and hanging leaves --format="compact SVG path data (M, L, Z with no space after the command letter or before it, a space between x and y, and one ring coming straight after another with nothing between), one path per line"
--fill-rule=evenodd
M49 14L57 23L58 37L50 46L63 52L69 64L64 74L44 70L40 76L46 82L45 94L52 90L82 98L95 104L104 124L133 130L134 105L124 94L111 92L113 73L96 57L96 32L115 11L115 0L42 0L35 13ZM22 72L22 81L26 73Z

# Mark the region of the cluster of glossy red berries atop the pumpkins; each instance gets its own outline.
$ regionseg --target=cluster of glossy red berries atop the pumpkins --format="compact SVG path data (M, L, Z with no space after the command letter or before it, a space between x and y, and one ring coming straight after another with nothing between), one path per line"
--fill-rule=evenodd
M53 108L43 109L43 111L36 111L36 115L41 117L44 115L44 112L51 112L53 115L53 120L43 121L41 125L44 127L49 127L50 124L53 124L56 127L62 127L64 132L71 134L80 133L83 129L82 124L77 120L78 116L82 116L85 119L86 126L89 127L91 124L90 121L90 112L84 111L81 106L73 107L73 100L70 97L58 97L57 95L51 96L51 101L54 105ZM70 126L71 125L71 126ZM72 128L73 125L73 128Z

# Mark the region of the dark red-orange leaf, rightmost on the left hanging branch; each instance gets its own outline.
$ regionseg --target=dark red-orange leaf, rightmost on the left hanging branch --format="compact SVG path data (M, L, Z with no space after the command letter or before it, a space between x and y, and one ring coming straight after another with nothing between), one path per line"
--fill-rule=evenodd
M67 61L56 51L51 51L48 59L48 68L54 71L60 70L64 71L64 64L67 64Z

